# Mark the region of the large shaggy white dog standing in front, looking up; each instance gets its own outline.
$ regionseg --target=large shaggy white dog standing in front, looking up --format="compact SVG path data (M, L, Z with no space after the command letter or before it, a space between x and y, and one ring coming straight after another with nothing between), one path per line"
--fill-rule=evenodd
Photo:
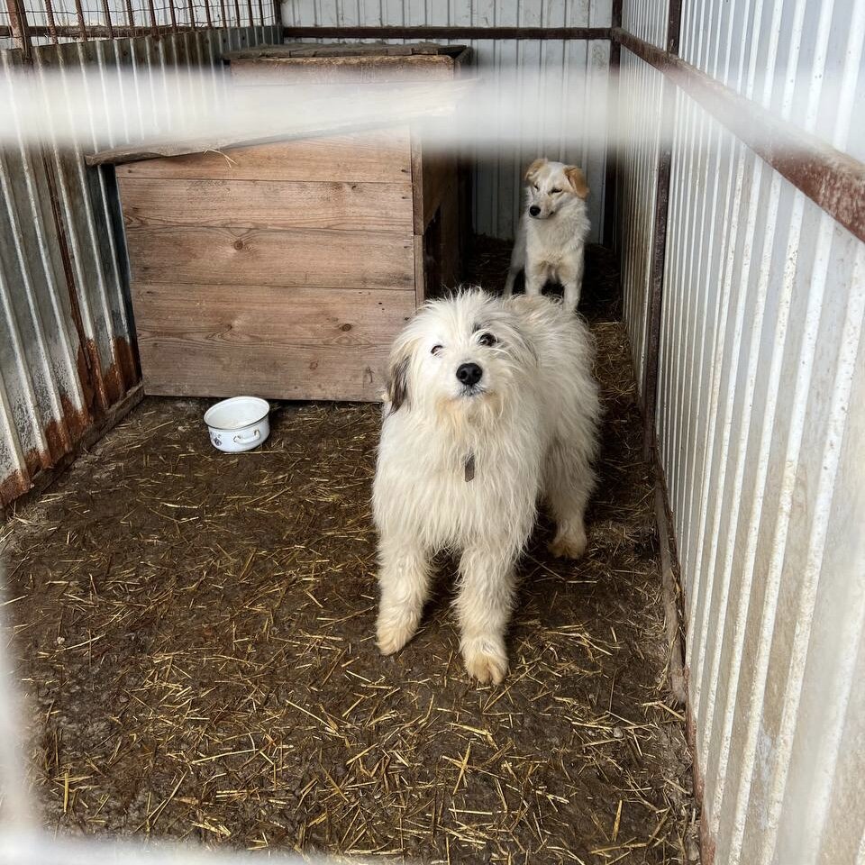
M373 512L378 647L399 651L421 620L431 559L460 554L455 601L469 673L499 682L514 562L541 496L556 555L586 550L600 403L587 326L545 297L480 289L424 305L390 355Z

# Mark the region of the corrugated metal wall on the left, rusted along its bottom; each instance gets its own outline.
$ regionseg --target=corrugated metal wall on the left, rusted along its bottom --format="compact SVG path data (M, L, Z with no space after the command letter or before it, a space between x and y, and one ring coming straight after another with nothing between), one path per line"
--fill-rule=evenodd
M224 50L278 40L273 27L159 39L68 42L34 50L34 69L132 69L159 93L166 68L223 71ZM0 69L22 64L0 50ZM105 99L98 87L96 103ZM136 94L129 94L134 108ZM4 123L15 122L10 106ZM124 141L136 135L133 110ZM93 150L123 141L93 141ZM0 504L32 485L121 404L139 380L119 203L110 171L52 140L0 151Z

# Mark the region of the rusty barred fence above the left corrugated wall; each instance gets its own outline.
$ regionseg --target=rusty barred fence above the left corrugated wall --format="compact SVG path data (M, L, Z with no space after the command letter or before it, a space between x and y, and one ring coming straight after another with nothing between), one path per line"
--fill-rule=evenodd
M280 23L278 0L0 0L0 50Z

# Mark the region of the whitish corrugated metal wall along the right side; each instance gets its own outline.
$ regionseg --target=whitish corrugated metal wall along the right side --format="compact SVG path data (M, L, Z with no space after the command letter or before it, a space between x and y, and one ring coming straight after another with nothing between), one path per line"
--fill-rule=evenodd
M859 158L863 43L858 0L684 5L685 59ZM707 834L715 865L859 865L865 244L688 96L675 114L656 432Z

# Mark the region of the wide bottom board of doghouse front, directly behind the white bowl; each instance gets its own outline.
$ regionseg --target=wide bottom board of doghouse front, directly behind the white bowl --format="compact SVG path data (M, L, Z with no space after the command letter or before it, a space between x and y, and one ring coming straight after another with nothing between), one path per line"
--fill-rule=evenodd
M378 400L414 291L138 285L147 393Z

